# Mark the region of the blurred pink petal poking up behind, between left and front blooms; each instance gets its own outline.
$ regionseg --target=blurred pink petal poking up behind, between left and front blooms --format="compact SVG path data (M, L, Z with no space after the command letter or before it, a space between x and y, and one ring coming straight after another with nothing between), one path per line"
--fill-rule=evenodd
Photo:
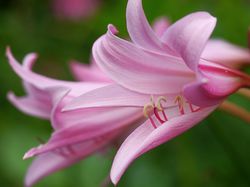
M111 82L111 80L95 65L87 65L73 61L70 69L78 81Z

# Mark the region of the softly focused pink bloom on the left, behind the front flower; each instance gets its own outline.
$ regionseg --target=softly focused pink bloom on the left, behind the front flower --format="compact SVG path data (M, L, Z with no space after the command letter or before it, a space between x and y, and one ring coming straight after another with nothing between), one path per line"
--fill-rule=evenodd
M14 59L9 49L7 56L13 70L23 79L27 92L24 97L9 93L9 100L27 114L50 119L54 129L48 143L31 149L24 156L37 156L26 175L25 185L28 187L105 148L136 125L141 117L139 109L114 107L62 112L62 108L73 98L107 83L54 80L31 71L35 54L27 55L23 66Z

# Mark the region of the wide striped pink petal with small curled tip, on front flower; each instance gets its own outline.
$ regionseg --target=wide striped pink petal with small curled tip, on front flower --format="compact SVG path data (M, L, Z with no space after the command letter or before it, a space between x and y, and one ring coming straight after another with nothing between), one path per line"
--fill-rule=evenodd
M184 84L194 80L194 73L182 59L145 51L115 36L112 25L108 29L95 42L93 57L118 84L144 94L164 94L180 92Z

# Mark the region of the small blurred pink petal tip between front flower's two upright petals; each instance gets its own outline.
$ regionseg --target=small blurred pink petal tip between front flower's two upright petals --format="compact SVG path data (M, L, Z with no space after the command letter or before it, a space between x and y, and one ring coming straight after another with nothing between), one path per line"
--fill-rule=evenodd
M153 30L158 37L162 37L167 28L170 26L170 21L167 17L160 17L153 23Z

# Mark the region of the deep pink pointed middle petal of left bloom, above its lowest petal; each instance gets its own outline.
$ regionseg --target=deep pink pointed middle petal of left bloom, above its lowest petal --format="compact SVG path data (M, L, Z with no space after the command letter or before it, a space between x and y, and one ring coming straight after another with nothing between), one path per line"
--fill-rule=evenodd
M25 158L69 144L95 139L117 130L125 132L125 129L135 127L141 118L143 118L141 109L125 107L56 113L53 116L53 123L60 128L53 133L47 144L32 148L25 154Z

